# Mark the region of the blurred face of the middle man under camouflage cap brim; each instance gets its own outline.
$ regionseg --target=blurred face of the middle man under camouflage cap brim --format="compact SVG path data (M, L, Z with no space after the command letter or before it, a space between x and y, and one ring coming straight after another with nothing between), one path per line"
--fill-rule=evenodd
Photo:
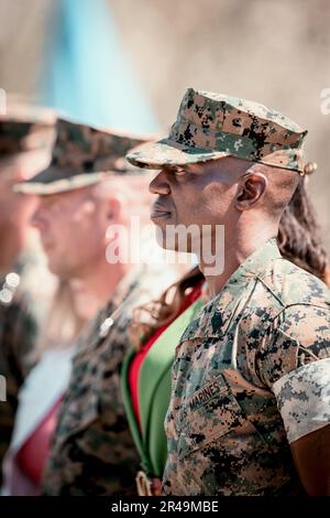
M40 196L32 224L38 229L50 270L62 279L82 278L106 261L106 201L94 186Z

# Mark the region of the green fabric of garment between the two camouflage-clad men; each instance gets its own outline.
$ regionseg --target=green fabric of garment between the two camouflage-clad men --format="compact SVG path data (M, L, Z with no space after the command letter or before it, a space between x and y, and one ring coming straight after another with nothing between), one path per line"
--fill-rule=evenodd
M167 457L164 420L170 397L170 371L175 349L202 304L202 299L198 299L176 319L153 344L142 364L139 384L142 433L135 420L129 387L129 367L135 354L134 349L128 353L122 366L121 387L131 433L141 456L142 468L153 476L162 477Z

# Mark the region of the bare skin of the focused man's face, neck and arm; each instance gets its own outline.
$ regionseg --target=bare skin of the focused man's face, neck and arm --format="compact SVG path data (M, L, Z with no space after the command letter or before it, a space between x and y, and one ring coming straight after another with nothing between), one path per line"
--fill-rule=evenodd
M164 168L150 184L158 196L152 219L162 231L167 224L224 225L224 271L207 277L212 298L253 250L277 236L297 183L295 172L234 158ZM290 450L307 494L330 496L330 424L293 442Z

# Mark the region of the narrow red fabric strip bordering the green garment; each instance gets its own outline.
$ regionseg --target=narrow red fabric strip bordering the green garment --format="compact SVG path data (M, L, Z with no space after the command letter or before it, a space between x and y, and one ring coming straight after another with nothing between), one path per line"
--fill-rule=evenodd
M140 378L142 364L148 350L152 348L153 344L161 336L161 334L172 324L172 322L175 321L175 319L177 319L185 310L187 310L187 307L189 307L189 305L191 305L200 296L201 287L202 287L202 282L197 284L191 290L191 292L188 295L186 295L178 314L170 322L168 322L165 325L162 325L156 331L156 333L148 338L148 341L143 345L143 347L141 347L141 349L136 352L136 354L132 358L132 361L129 368L129 387L130 387L130 392L131 392L133 411L134 411L135 419L140 428L141 428L141 419L140 419L140 409L139 409L139 378Z

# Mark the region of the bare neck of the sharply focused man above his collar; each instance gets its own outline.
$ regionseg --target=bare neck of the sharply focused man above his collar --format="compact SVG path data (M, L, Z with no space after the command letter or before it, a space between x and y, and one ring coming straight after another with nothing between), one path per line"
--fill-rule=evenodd
M274 225L262 228L250 225L250 228L237 228L234 231L224 233L222 268L212 268L213 265L206 265L200 261L199 268L202 271L210 299L213 299L228 282L232 273L242 265L251 253L265 245L272 237L277 236L277 228ZM216 248L217 249L217 248ZM217 258L219 253L216 255Z

